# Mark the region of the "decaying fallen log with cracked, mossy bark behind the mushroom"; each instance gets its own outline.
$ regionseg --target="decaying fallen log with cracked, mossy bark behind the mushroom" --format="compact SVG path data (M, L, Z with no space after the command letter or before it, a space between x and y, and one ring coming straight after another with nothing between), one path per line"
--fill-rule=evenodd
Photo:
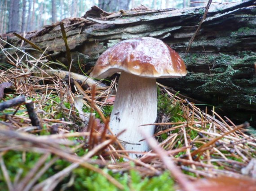
M231 119L256 126L256 2L211 5L188 55L185 49L205 8L145 10L106 13L94 7L84 18L64 19L73 64L89 70L98 56L120 40L151 36L160 38L184 58L188 75L160 82L189 97L215 105ZM1 38L16 47L21 40L12 34ZM66 62L59 23L46 26L26 38ZM9 45L1 42L4 48ZM34 56L40 52L23 50ZM157 51L157 50L156 50ZM0 60L1 61L1 60Z

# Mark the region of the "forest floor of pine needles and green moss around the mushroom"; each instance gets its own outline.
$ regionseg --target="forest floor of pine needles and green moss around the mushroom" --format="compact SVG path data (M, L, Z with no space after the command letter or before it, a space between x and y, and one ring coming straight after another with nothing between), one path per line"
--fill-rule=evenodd
M116 79L102 90L83 90L59 76L35 75L47 66L44 58L5 54L9 60L0 66L1 190L256 189L256 137L248 123L236 125L214 109L200 110L158 84L155 139L147 140L153 151L130 158L107 130Z

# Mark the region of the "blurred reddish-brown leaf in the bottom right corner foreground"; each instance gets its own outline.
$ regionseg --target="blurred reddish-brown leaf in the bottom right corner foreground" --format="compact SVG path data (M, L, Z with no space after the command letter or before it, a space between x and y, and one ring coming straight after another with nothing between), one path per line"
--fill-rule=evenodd
M198 191L256 191L256 180L221 176L199 179L194 186Z

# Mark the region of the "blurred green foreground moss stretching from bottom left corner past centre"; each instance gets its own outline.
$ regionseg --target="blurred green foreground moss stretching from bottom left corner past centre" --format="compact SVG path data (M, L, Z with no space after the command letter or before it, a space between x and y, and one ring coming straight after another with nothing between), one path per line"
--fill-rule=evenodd
M80 153L81 154L81 153ZM23 157L22 157L23 155ZM25 157L24 157L25 156ZM24 178L31 169L36 165L42 154L33 152L17 152L9 151L3 155L4 164L8 170L10 180L13 182L18 171L22 170L21 178ZM46 162L49 162L53 156L49 157ZM70 162L63 159L58 159L51 168L49 168L39 179L39 182L44 181L53 174L63 170L70 165ZM143 178L137 170L130 170L124 174L113 173L110 170L104 171L118 180L124 186L124 191L174 191L172 188L174 182L168 172L155 177ZM98 174L92 170L85 169L81 166L72 171L72 173L64 178L57 188L63 187L69 183L71 178L74 178L74 183L67 187L66 190L72 191L119 191L119 188L110 183L105 176ZM0 170L0 187L1 190L8 190L2 171Z

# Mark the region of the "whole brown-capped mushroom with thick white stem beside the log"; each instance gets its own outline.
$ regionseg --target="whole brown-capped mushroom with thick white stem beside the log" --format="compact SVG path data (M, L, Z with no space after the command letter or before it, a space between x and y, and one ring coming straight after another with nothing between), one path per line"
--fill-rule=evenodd
M97 60L90 76L105 78L121 72L110 116L110 128L119 136L128 151L149 150L140 131L152 136L157 118L156 78L180 77L186 75L181 57L163 41L151 38L133 38L110 47ZM141 128L140 130L138 128ZM131 157L136 157L130 154Z

